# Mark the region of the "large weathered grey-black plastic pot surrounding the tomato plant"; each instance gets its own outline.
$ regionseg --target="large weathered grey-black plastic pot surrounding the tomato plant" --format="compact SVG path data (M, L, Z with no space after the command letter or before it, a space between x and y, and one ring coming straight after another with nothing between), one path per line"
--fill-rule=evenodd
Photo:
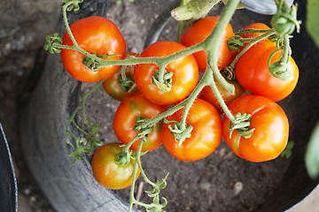
M81 16L102 14L105 4L85 1ZM306 2L299 3L299 19L305 23ZM248 12L248 11L247 11ZM248 12L256 22L265 16ZM72 13L70 21L80 19ZM63 33L63 24L58 32ZM319 120L318 81L319 50L306 33L293 34L292 57L300 68L300 80L295 91L279 102L290 120L290 139L295 141L292 161L276 190L256 211L284 211L302 201L318 185L305 169L304 155L309 135ZM21 108L20 133L27 164L43 193L57 211L126 211L128 204L111 190L101 188L91 174L88 159L70 166L71 148L65 142L67 119L79 102L81 83L64 70L58 54L50 55L41 79ZM137 211L137 210L135 210Z

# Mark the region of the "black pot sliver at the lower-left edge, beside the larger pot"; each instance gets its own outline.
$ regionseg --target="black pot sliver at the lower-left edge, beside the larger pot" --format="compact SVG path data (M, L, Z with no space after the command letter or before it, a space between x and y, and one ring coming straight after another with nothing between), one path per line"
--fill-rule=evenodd
M0 210L18 211L18 186L12 163L12 155L0 123Z

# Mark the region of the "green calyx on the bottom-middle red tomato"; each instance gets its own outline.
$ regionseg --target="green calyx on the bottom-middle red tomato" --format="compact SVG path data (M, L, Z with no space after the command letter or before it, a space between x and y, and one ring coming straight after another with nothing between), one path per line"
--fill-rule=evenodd
M191 138L191 131L193 130L193 127L191 125L186 125L185 127L182 127L180 122L168 121L166 118L164 118L164 123L175 124L173 126L168 125L168 128L171 134L174 136L175 141L178 142L178 147L181 147L183 141L185 141L188 138Z

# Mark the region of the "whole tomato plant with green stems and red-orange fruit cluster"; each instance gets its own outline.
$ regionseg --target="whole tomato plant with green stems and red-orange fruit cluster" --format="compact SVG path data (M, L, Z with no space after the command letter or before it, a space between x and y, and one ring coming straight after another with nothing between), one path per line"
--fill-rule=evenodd
M61 51L62 63L74 78L99 81L82 97L67 122L66 140L74 150L70 156L74 156L75 163L102 145L95 137L101 124L89 123L85 100L103 84L106 93L122 101L113 118L113 131L123 145L112 143L99 148L92 170L97 182L108 188L120 189L133 182L128 211L133 204L147 211L163 211L167 204L165 198L159 198L159 190L167 186L167 176L153 183L140 163L141 155L161 143L183 161L210 155L222 136L235 154L252 162L274 159L284 150L289 124L284 110L274 101L289 95L299 77L289 47L289 34L294 27L299 29L295 7L276 1L278 12L271 21L273 28L257 23L235 35L230 19L239 0L225 1L221 17L207 18L204 17L218 1L183 1L183 5L171 11L181 21L176 33L181 43L154 42L139 57L123 59L126 44L111 21L95 16L69 26L66 11L79 9L82 0L63 2L66 34L63 40L58 34L47 36L49 43L45 49L51 53ZM270 40L276 40L277 45ZM121 70L114 74L120 65ZM130 65L135 65L134 74ZM199 81L198 70L205 72ZM229 73L227 79L236 75L238 82L224 79L225 72ZM133 79L140 92L130 90ZM117 93L119 87L121 94ZM257 95L245 95L245 89ZM81 107L89 132L75 121ZM221 115L225 115L223 121ZM71 124L84 138L69 130ZM137 150L134 156L131 149ZM136 158L135 163L132 158ZM144 181L152 186L147 192L153 199L151 204L135 200L134 182L140 171Z

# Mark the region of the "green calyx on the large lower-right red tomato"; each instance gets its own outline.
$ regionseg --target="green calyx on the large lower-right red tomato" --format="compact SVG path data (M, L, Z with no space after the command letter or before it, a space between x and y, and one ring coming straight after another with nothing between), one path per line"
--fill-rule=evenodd
M249 139L253 135L253 129L249 129L251 125L251 114L241 114L237 113L235 120L230 122L230 138L234 130L237 130L237 134L243 136L245 139Z

